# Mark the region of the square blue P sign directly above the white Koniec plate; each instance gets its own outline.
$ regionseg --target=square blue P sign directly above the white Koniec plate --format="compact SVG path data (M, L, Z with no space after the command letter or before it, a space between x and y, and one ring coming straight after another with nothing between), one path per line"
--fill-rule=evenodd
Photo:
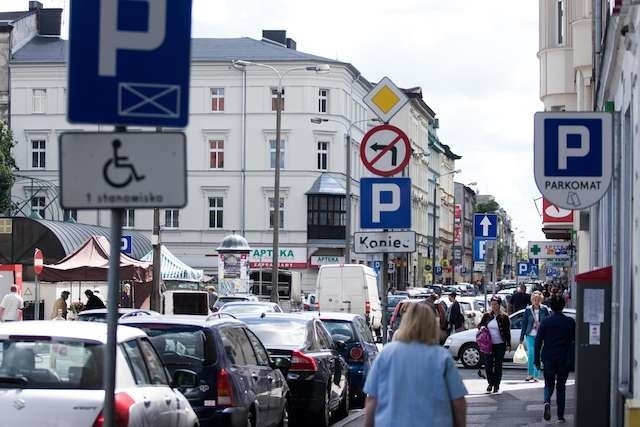
M411 178L361 178L360 228L411 228Z

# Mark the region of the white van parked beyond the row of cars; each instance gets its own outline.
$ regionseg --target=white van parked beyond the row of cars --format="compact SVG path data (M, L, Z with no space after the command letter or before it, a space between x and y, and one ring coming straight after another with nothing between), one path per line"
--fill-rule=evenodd
M316 281L319 310L356 313L365 316L378 334L382 309L376 273L362 264L320 266Z

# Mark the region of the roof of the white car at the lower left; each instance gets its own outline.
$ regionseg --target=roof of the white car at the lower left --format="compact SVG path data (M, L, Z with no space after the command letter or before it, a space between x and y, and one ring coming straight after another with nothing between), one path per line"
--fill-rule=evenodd
M55 337L81 341L107 342L107 324L102 322L66 322L62 320L27 320L0 324L0 338L11 335ZM137 328L118 326L118 342L129 341L146 334Z

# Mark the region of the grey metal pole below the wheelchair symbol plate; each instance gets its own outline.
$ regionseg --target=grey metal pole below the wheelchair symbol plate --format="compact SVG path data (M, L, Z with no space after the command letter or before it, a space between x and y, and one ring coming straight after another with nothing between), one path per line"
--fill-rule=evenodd
M111 209L109 248L109 292L107 299L107 347L104 364L104 425L114 423L114 392L116 383L116 328L118 327L118 301L120 300L120 237L124 209Z

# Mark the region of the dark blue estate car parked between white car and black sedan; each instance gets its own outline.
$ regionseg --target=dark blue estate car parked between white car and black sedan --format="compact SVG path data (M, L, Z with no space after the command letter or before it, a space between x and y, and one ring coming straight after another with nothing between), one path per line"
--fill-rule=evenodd
M264 427L288 420L288 387L260 340L230 314L133 317L170 372L187 368L200 377L181 389L202 426Z

